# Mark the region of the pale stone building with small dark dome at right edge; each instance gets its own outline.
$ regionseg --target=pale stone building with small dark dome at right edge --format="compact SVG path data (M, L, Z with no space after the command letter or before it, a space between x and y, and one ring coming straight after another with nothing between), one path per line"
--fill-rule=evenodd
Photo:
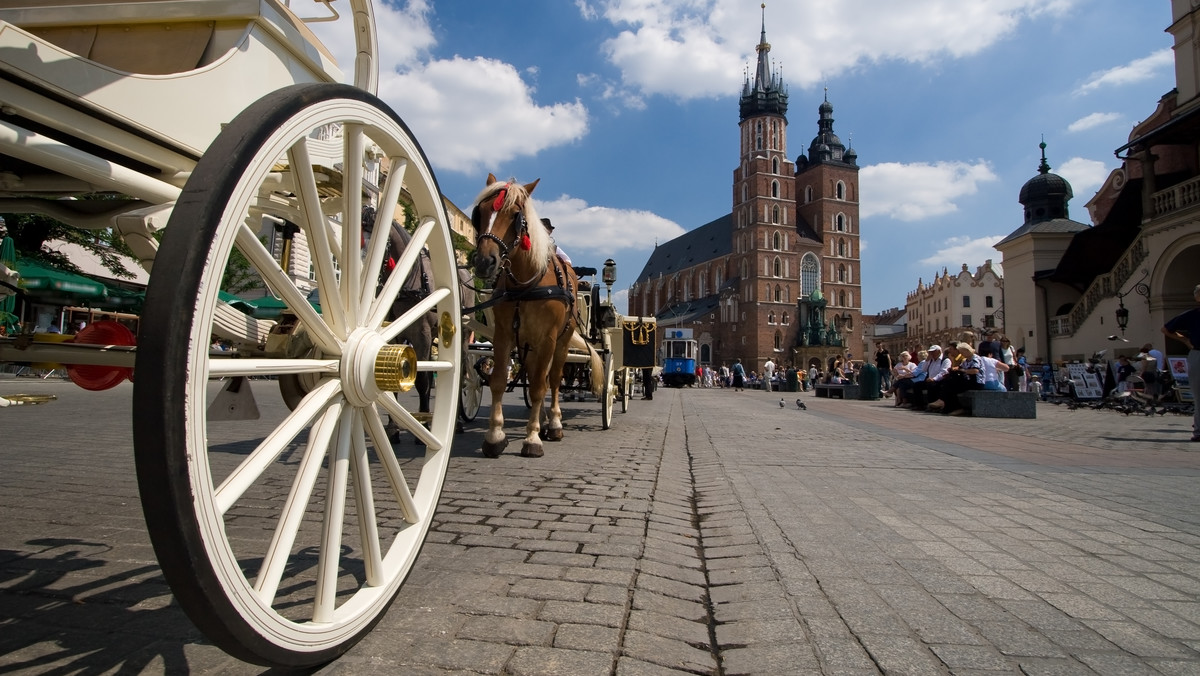
M1172 0L1171 19L1176 86L1116 149L1121 167L1086 204L1094 225L1038 221L1038 208L1062 208L1066 220L1072 197L1046 169L1026 184L1032 195L1022 189L1026 225L996 244L1009 335L1034 361L1111 358L1147 342L1187 354L1159 329L1194 306L1200 283L1200 6Z

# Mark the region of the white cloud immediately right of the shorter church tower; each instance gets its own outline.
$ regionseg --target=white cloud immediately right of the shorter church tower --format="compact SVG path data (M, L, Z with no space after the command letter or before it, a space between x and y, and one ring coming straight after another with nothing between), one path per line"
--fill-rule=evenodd
M863 198L859 216L890 216L919 221L958 211L955 199L974 195L979 184L996 180L983 160L901 164L884 162L863 167L858 174Z

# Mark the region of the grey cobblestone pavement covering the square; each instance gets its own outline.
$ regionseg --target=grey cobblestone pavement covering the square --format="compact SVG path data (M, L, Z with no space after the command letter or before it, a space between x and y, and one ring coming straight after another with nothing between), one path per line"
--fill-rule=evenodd
M127 385L0 409L0 674L259 674L172 602ZM779 397L785 397L780 408ZM533 460L458 435L428 540L323 674L1200 674L1190 419L660 390ZM521 409L509 414L516 429Z

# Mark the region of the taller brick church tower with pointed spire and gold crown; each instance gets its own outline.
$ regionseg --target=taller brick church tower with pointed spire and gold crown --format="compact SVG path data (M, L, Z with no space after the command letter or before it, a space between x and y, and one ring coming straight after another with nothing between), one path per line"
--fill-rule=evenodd
M787 158L787 89L772 73L763 8L754 77L739 102L740 150L733 171L730 275L739 280L732 312L732 349L758 366L769 357L791 361L791 319L798 291L796 265L796 177ZM726 300L728 303L728 300ZM730 316L732 315L732 316Z

